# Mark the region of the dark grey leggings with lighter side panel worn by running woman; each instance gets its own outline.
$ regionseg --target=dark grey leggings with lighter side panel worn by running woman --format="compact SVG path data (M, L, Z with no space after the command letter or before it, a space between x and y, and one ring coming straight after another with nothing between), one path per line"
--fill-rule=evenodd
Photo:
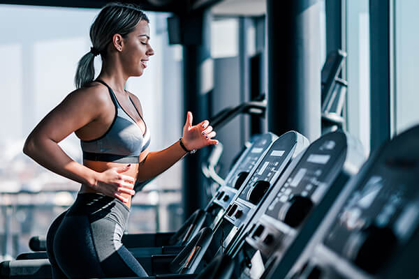
M129 209L119 199L78 194L47 234L52 278L147 276L121 242Z

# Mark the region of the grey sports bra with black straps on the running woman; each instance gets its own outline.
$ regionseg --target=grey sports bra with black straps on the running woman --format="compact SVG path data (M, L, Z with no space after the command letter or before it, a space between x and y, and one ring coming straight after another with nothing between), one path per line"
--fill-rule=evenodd
M150 133L147 126L145 126L145 134L142 135L142 130L134 119L122 109L110 86L102 80L96 80L96 82L101 82L108 87L110 98L115 105L115 117L109 129L101 137L96 140L80 140L83 158L103 162L138 163L138 156L150 144ZM141 117L140 112L138 115ZM142 121L145 124L144 119Z

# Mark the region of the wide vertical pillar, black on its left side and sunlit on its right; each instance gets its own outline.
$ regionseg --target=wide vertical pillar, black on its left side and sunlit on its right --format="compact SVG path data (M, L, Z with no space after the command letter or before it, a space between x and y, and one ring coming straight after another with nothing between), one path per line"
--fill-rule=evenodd
M321 133L319 1L267 0L268 128Z

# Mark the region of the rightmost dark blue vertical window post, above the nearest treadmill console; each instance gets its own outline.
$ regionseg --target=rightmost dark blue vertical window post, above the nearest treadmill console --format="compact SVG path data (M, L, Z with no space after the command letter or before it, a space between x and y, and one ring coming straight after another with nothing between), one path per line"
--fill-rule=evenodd
M369 1L371 151L390 139L390 1Z

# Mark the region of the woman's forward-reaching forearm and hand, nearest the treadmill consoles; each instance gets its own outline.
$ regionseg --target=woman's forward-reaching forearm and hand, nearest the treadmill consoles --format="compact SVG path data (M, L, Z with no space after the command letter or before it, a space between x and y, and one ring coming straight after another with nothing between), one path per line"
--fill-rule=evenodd
M212 126L209 125L207 120L192 126L192 114L188 112L182 136L182 142L186 149L201 149L210 144L218 144L217 140L212 140L212 137L215 137L215 135L216 133L212 130ZM138 181L154 178L186 155L186 151L184 151L179 141L161 151L147 152L147 150L143 151L144 154L140 156L141 163L138 167Z

